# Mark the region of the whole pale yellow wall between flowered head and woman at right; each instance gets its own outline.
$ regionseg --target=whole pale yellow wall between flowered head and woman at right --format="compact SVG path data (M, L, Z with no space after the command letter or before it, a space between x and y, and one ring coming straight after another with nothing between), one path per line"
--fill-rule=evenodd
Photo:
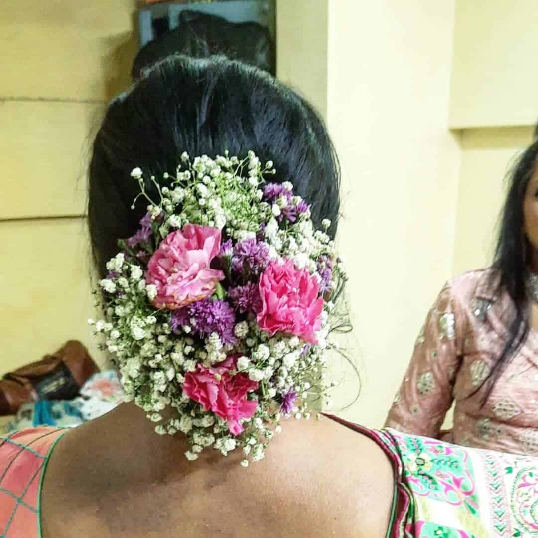
M538 12L527 1L490 7L317 0L303 15L300 3L278 5L279 76L325 112L342 162L339 240L355 325L345 344L362 374L345 414L369 426L383 423L444 281L490 263L505 175L532 136L518 124L538 110L523 55L536 38L521 23ZM341 362L336 370L345 404L356 376Z

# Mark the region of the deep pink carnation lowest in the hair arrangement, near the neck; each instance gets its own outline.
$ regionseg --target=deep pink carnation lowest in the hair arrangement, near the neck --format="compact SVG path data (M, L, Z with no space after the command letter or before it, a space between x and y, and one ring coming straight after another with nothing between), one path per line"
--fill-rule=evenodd
M244 373L232 376L237 357L230 356L222 363L207 368L199 364L195 372L185 374L183 391L187 396L202 404L206 411L211 410L228 422L232 435L243 431L240 419L250 419L256 412L258 402L247 400L247 392L258 388L257 381L251 381Z

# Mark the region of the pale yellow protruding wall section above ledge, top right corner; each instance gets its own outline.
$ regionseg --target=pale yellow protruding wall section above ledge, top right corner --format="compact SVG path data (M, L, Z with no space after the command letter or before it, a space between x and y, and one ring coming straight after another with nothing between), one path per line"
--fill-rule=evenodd
M452 128L531 125L538 119L533 0L457 0Z

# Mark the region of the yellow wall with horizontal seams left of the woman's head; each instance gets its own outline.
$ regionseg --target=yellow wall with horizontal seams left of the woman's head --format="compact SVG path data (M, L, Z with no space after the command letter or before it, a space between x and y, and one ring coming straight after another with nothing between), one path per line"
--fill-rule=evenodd
M0 17L0 374L80 339L98 362L84 168L129 83L134 0L4 0Z

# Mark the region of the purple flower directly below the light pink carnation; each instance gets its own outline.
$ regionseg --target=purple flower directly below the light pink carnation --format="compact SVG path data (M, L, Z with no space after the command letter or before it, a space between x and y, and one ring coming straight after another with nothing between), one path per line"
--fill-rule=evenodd
M215 301L208 297L175 310L170 325L174 332L178 332L180 327L189 325L194 334L202 338L216 332L224 344L234 344L236 342L236 337L233 335L235 321L235 312L228 302Z

